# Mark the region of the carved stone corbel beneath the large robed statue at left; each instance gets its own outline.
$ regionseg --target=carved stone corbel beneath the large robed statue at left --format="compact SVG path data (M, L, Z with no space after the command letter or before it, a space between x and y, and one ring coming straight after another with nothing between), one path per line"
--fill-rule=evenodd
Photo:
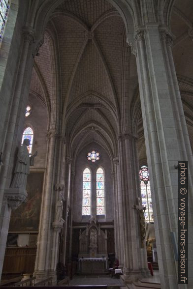
M28 193L23 188L9 188L4 193L4 198L12 210L17 209L22 202L26 201L27 197Z

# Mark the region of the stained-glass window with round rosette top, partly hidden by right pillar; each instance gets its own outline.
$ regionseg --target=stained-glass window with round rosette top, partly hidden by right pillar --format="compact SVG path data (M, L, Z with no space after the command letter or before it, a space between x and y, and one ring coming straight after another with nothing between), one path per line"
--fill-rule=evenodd
M142 166L139 171L140 184L141 184L141 200L142 206L146 207L144 217L146 222L154 222L152 196L150 191L149 172L146 166Z

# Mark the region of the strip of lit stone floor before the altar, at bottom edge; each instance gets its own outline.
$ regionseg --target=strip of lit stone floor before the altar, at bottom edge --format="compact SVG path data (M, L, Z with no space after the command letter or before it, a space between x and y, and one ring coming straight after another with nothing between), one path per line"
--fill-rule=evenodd
M75 276L70 280L70 285L116 285L122 286L123 282L121 279L110 278L109 276Z

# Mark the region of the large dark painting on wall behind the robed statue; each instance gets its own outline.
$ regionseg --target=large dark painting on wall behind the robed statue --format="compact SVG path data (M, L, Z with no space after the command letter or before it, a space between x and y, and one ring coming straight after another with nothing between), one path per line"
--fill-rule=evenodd
M31 172L28 175L27 202L12 211L9 231L38 231L43 176L43 172Z

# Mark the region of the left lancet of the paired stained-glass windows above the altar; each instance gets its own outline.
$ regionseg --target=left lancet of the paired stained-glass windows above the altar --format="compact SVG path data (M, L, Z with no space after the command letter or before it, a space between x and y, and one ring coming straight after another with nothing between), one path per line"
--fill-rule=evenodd
M89 168L83 172L82 215L91 215L91 171Z

